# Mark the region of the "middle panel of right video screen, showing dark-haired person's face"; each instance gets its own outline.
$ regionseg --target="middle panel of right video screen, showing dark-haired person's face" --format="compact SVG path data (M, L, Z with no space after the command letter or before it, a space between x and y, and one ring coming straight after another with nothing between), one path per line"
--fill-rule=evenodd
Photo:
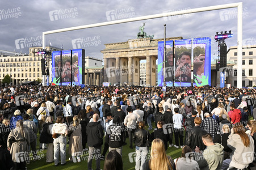
M175 40L175 86L191 86L191 39Z

